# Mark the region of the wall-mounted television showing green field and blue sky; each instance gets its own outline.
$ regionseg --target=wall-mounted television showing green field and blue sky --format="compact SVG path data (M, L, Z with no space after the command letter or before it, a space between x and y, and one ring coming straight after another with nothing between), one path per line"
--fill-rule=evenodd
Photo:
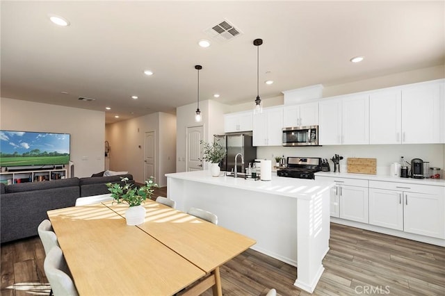
M66 165L69 162L69 133L0 131L0 167Z

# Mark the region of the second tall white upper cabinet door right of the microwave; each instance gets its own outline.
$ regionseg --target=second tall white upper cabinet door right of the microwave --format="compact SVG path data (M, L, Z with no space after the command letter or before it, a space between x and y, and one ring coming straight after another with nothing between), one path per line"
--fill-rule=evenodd
M341 108L341 144L369 144L369 94L344 97Z

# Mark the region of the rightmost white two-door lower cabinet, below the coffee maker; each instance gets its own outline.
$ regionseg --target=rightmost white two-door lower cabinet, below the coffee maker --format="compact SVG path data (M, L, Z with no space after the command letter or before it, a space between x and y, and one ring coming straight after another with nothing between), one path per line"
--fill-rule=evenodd
M444 187L369 181L369 224L445 238Z

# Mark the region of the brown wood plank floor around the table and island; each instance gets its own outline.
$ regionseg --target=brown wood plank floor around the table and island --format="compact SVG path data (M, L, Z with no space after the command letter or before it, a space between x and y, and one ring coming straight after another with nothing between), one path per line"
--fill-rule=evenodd
M157 195L166 196L166 188ZM1 295L49 295L43 261L38 236L1 245ZM332 223L323 265L312 295L445 295L444 247ZM270 288L283 296L310 295L293 286L296 268L251 249L220 274L223 295L266 295Z

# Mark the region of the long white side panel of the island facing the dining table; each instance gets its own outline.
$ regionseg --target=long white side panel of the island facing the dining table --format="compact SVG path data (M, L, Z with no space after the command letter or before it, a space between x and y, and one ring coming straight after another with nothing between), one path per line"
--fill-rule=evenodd
M296 198L171 177L167 190L178 210L211 211L218 225L257 240L252 249L297 265Z

